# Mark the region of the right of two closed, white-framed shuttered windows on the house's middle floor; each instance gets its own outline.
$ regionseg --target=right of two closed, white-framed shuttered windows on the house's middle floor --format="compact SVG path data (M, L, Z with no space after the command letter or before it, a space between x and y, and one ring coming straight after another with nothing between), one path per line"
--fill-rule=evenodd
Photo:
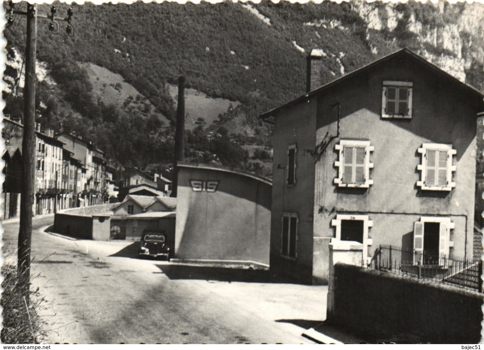
M456 169L452 165L452 156L457 153L452 145L423 144L418 152L422 154L422 163L417 166L417 170L422 172L422 176L417 186L422 190L452 190L455 187L452 172Z

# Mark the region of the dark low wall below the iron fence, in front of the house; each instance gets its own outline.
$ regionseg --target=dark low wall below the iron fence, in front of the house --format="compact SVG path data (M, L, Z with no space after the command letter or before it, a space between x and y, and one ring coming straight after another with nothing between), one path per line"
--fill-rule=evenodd
M332 322L369 341L476 344L483 299L444 284L334 265Z

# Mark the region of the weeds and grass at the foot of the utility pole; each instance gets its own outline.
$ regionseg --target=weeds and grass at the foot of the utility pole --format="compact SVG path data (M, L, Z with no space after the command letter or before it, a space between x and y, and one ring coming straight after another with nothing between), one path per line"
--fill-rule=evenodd
M42 322L37 309L43 302L37 291L30 292L30 306L20 295L17 267L5 263L1 268L3 282L0 305L3 307L3 328L0 333L3 344L32 344L41 341Z

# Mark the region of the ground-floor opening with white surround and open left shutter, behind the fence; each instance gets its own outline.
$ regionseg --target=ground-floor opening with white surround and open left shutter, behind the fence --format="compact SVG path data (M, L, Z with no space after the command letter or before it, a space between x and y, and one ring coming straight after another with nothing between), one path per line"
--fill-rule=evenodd
M413 263L445 265L450 248L454 247L450 230L454 222L448 217L421 217L413 228Z

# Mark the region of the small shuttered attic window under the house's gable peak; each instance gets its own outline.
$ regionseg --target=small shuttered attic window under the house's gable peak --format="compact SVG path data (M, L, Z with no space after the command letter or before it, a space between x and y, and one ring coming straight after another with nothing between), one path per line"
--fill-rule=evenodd
M393 80L383 81L381 117L411 118L412 88L412 82Z

